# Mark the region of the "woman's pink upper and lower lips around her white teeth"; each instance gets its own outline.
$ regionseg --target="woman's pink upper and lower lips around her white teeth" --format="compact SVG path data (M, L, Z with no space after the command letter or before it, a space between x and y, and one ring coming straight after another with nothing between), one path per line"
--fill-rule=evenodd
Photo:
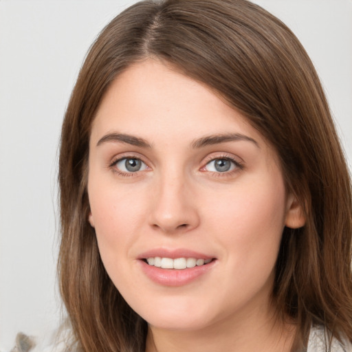
M197 258L197 259L213 259L210 263L201 266L188 267L186 269L162 269L153 265L148 265L144 259L160 256L162 258ZM163 286L178 287L187 285L199 280L202 276L208 274L217 260L214 256L209 256L192 250L179 248L177 250L166 250L159 248L148 250L138 256L138 263L144 274L154 283Z

